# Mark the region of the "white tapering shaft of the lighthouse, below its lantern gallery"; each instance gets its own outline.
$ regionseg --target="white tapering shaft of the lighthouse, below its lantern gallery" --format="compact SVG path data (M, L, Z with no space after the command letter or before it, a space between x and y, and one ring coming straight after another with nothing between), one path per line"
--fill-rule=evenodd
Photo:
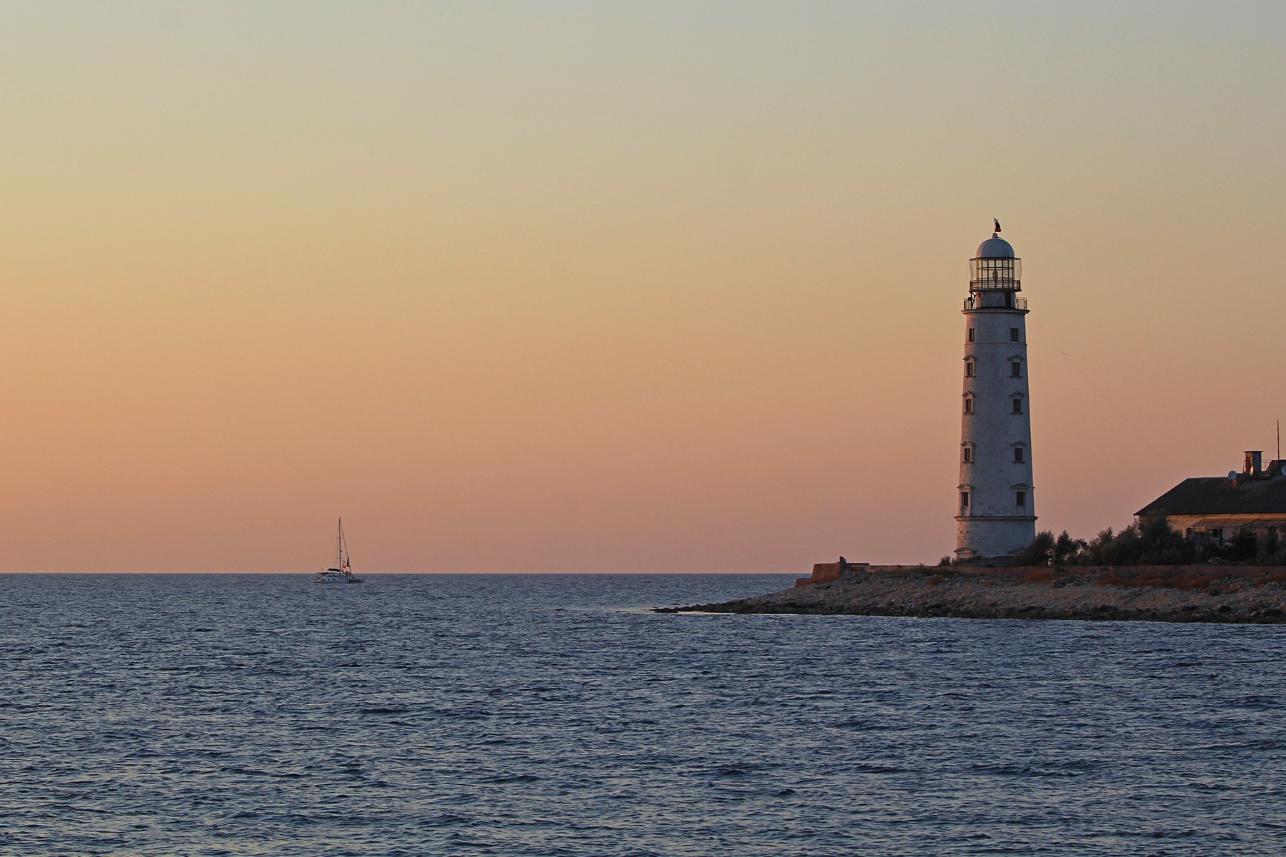
M1011 330L1017 330L1017 340ZM964 331L955 552L959 558L1004 556L1035 538L1026 310L966 310ZM970 362L972 376L964 369ZM1017 378L1015 362L1021 367ZM966 410L970 398L972 412ZM1021 402L1021 414L1013 412L1015 400ZM1015 461L1015 448L1022 450L1022 461ZM970 495L967 508L962 491ZM1025 495L1021 506L1019 492Z

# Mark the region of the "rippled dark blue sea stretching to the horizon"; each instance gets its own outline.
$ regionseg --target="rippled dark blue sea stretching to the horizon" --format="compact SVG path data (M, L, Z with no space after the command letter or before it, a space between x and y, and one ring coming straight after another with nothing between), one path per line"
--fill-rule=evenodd
M0 854L1286 853L1286 626L778 576L0 576Z

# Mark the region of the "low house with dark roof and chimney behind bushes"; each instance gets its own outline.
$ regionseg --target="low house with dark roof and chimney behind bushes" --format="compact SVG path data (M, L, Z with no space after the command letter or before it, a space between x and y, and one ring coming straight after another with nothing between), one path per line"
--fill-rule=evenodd
M1263 452L1246 452L1241 473L1184 479L1139 509L1136 515L1163 514L1184 536L1223 543L1241 527L1256 536L1286 532L1286 474L1277 459L1263 466Z

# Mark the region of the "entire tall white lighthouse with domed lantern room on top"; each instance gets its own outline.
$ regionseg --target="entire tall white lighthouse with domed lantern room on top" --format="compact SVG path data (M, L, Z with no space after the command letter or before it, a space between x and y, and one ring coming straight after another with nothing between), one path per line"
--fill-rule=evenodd
M970 260L957 560L1006 558L1037 535L1022 265L995 233Z

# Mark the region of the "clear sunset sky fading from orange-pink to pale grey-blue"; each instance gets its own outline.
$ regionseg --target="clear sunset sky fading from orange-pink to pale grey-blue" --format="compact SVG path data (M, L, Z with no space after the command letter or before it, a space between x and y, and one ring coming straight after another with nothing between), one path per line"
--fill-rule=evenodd
M954 547L961 299L1040 528L1286 418L1280 3L3 3L0 570Z

